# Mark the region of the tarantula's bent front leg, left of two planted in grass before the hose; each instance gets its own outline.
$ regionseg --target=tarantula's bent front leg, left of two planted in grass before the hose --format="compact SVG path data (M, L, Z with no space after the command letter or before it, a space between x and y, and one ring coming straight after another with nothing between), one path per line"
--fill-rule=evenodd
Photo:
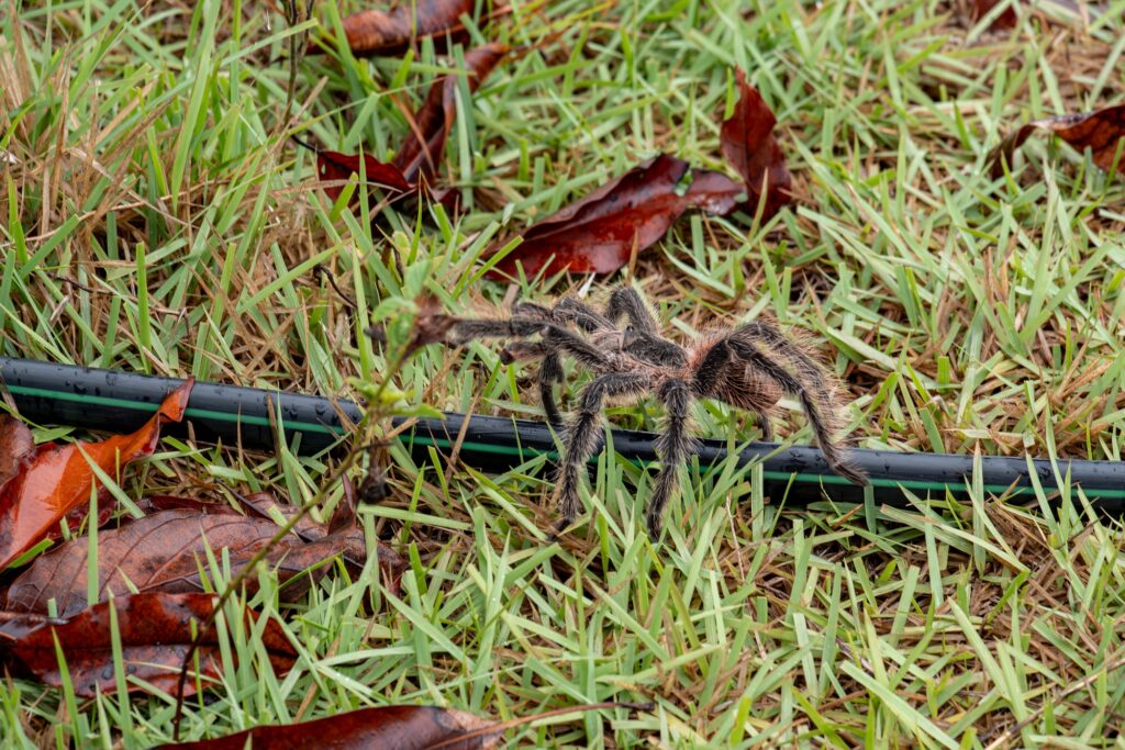
M578 414L567 426L562 439L559 519L555 526L556 533L573 524L578 510L582 509L582 497L578 494L580 476L586 461L597 451L602 401L615 396L640 398L648 385L649 379L646 376L614 372L598 376L582 389L578 397Z

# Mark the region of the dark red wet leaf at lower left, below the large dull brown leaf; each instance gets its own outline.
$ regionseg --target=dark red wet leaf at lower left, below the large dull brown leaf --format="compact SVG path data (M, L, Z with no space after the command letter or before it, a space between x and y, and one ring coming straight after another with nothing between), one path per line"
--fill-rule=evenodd
M112 614L120 635L126 675L168 692L176 688L194 626L209 622L215 599L212 594L135 594L97 604L69 620L43 622L34 615L10 618L0 624L0 661L16 674L61 687L57 642L76 695L94 697L99 690L112 692L117 687L111 645ZM245 612L248 621L256 618L254 613ZM205 679L219 675L216 631L207 629L199 642L200 674ZM268 621L258 640L276 670L285 671L292 666L297 652L278 623ZM130 681L127 689L145 688ZM189 679L188 694L195 689L195 680Z

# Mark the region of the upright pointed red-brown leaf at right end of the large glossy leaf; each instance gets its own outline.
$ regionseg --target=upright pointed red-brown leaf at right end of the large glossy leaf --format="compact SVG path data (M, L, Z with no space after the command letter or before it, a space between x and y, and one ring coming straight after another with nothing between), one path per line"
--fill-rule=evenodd
M768 219L782 206L792 202L792 178L785 169L781 145L773 135L777 118L758 90L746 82L746 73L739 70L735 75L740 96L734 115L722 124L719 143L727 161L746 183L749 199L742 208L754 214L764 192L763 219Z

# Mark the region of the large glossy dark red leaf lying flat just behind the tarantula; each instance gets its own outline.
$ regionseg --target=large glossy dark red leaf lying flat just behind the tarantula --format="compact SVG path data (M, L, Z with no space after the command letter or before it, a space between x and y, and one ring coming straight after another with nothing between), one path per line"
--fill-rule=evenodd
M687 170L687 162L667 154L634 166L524 232L523 242L488 277L515 277L518 265L529 277L564 270L612 273L663 237L688 208L729 214L746 192L730 178L701 170L682 191Z

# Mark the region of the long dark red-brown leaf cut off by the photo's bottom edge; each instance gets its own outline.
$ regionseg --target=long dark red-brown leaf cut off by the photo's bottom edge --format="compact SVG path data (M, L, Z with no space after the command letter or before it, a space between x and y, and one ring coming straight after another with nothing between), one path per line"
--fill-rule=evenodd
M442 750L493 748L501 730L493 722L464 711L436 706L379 706L360 708L300 724L255 726L236 734L184 742L165 748L189 750L244 750L271 748L298 750L325 747L325 739L338 750L395 748L395 750Z

